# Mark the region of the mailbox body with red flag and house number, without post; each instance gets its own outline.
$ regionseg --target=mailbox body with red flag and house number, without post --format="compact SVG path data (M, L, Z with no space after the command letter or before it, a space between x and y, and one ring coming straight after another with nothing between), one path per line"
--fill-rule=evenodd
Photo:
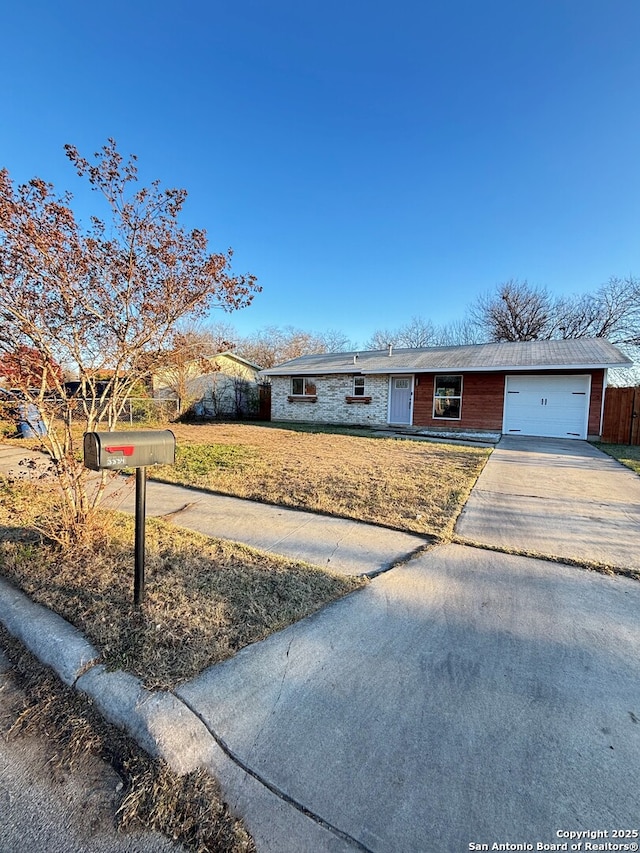
M175 461L176 437L170 429L84 434L84 464L92 471L173 465Z

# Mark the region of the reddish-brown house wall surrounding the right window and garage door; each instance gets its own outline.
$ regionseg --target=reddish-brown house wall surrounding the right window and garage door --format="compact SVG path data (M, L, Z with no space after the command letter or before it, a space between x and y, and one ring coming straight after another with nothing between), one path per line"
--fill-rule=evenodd
M589 435L600 431L603 370L576 370L573 373L591 373L591 404L589 407ZM521 371L538 375L541 371ZM564 370L545 370L545 375L567 373ZM462 376L462 417L458 420L433 417L433 390L435 376L416 374L413 402L413 424L424 427L450 427L452 429L502 430L504 409L504 373L464 373Z

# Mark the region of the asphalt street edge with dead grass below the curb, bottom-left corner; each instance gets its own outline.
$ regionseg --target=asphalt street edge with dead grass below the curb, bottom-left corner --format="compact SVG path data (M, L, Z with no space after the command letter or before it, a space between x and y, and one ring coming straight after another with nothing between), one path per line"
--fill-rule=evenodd
M1 648L3 851L255 851L211 776L151 759L0 629Z

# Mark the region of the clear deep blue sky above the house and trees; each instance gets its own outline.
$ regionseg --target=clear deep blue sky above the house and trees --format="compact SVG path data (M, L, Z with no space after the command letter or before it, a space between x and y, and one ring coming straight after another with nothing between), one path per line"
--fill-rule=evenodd
M640 275L637 0L12 3L0 165L81 192L114 137L263 292L230 320L461 318Z

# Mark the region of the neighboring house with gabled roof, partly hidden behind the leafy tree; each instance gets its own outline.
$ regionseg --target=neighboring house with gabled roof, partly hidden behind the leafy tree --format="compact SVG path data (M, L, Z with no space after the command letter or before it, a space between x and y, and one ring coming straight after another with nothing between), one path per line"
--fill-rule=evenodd
M230 351L203 356L157 370L152 377L153 396L176 400L179 410L192 407L198 417L255 415L260 369Z

